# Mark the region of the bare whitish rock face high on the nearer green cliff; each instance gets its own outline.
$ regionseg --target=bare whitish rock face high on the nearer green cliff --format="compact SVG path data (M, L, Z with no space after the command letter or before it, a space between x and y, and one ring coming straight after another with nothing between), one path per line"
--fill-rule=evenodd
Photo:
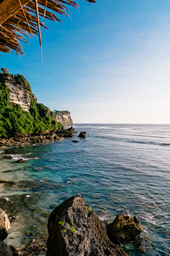
M16 83L15 78L5 77L2 79L8 88L11 90L10 92L10 102L21 105L23 110L29 112L30 110L30 91L28 90L27 85L21 85Z

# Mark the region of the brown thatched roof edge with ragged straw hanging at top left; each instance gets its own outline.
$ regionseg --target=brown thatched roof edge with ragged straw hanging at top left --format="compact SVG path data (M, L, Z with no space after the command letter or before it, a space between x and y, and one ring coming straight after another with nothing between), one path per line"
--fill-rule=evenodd
M95 3L95 0L86 0ZM57 14L69 16L69 6L78 8L72 0L0 0L0 51L23 54L20 41L28 43L26 36L39 35L43 20L60 21Z

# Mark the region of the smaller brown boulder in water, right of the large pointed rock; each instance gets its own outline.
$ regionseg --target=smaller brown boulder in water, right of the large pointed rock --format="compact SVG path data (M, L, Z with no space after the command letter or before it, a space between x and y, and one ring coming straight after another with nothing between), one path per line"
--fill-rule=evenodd
M134 216L123 216L122 213L116 215L113 223L107 225L107 235L112 242L135 241L137 235L143 231L140 221Z

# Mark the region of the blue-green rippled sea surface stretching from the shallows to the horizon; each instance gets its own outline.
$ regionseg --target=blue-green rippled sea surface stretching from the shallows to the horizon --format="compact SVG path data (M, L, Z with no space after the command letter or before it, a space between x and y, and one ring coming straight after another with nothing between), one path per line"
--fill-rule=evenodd
M0 151L0 207L11 220L8 244L47 240L47 218L80 194L101 220L137 216L139 245L130 256L170 255L170 125L74 124L86 139L4 147ZM25 159L16 163L17 159Z

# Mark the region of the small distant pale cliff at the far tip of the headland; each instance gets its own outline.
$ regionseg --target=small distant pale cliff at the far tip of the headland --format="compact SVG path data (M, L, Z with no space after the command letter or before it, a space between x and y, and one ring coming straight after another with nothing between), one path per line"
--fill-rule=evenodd
M64 127L70 126L73 124L70 112L67 110L59 111L54 110L51 112L52 116L57 122L60 122Z

